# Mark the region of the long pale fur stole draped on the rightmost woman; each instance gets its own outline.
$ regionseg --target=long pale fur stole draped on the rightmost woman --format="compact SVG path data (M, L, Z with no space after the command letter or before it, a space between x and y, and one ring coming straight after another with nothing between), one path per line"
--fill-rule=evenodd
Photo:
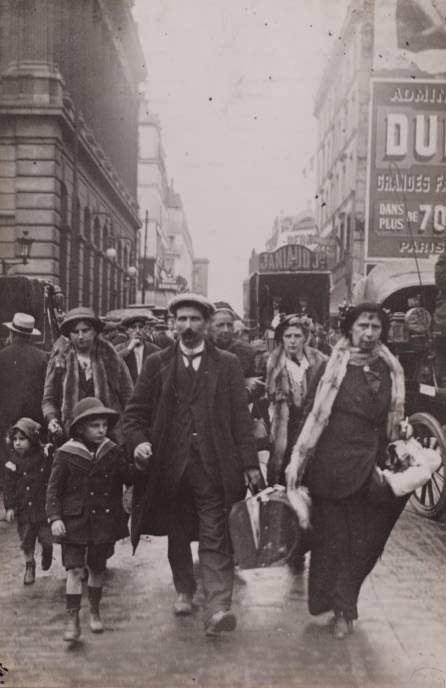
M289 491L295 489L296 482L302 477L306 464L328 425L331 409L347 371L351 349L350 341L343 337L335 345L328 360L316 390L313 408L291 453L286 471ZM390 372L392 391L387 414L387 437L393 440L398 437L398 425L404 418L404 371L398 359L381 342L377 344L374 354L384 361Z

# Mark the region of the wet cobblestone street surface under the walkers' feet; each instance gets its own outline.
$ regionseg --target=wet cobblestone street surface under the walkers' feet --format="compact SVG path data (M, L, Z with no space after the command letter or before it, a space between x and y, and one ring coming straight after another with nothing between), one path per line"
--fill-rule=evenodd
M23 585L15 526L0 513L0 662L6 688L444 688L446 681L446 525L403 514L364 585L360 620L344 641L328 616L306 608L304 574L287 566L238 573L238 628L217 640L175 599L164 538L145 538L136 556L116 545L102 603L105 633L93 635L81 611L81 640L64 626L64 570ZM199 603L198 598L198 603Z

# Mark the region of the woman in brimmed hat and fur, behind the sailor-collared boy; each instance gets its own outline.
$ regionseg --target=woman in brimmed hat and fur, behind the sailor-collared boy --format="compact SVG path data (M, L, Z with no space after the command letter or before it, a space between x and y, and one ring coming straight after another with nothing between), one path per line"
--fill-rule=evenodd
M130 373L114 347L100 334L102 321L90 308L68 311L48 363L42 410L48 431L69 436L75 405L95 397L119 413L114 439L122 443L121 417L133 392Z

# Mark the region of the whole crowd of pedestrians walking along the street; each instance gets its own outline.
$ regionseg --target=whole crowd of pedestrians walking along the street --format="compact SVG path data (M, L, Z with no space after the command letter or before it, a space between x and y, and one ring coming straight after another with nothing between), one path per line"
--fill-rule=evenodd
M351 308L329 346L306 305L279 319L269 351L250 341L228 303L179 294L165 322L129 312L119 331L74 308L49 355L32 344L31 315L5 323L6 520L17 522L25 585L35 581L36 542L42 570L51 566L53 542L61 545L64 639L81 634L86 578L90 629L103 631L106 562L129 525L134 550L142 534L167 536L177 616L195 606L191 542L198 541L204 632L234 630L231 507L247 488L291 492L301 483L313 501L309 610L334 613L335 637L350 633L361 585L407 499L376 480L404 415L387 319L378 304ZM259 413L270 436L266 470L253 432Z

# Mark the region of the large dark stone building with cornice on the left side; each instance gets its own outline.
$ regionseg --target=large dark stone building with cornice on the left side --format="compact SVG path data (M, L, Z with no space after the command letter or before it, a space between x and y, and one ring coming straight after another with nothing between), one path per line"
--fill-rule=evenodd
M31 260L11 272L98 313L134 296L146 73L131 5L0 0L1 256L7 266L28 232Z

